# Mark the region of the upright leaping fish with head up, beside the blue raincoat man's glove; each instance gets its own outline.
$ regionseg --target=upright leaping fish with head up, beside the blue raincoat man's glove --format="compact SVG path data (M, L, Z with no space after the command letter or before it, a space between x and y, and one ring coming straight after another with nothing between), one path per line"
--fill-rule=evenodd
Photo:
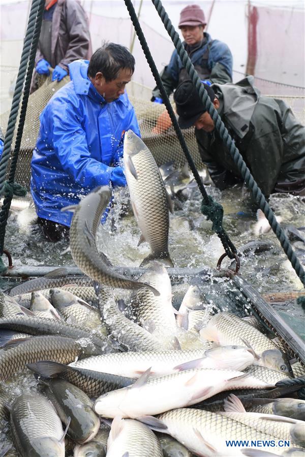
M168 253L171 200L153 155L132 130L124 137L124 166L131 205L142 232L139 244L147 241L150 246L150 254L142 264L163 259L173 267Z

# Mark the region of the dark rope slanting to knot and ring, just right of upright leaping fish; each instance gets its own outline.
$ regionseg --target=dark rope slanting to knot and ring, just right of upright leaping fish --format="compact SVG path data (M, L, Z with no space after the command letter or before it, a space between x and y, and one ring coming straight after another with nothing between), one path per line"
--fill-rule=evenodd
M128 9L128 12L129 12L129 15L130 15L130 18L132 20L132 23L134 25L134 28L136 30L136 34L139 38L139 41L140 41L140 44L141 44L141 47L143 49L143 52L144 52L144 55L146 57L146 60L148 62L148 65L150 67L150 70L151 70L151 73L153 73L153 76L156 80L156 83L160 89L160 92L161 92L161 95L162 95L162 99L163 99L163 102L166 106L166 109L169 113L169 116L170 116L170 119L172 121L172 124L173 124L173 127L175 129L175 132L176 132L176 135L177 135L177 138L179 140L179 143L181 145L181 148L188 160L188 164L191 168L191 171L194 175L194 178L197 182L197 185L199 187L199 190L201 192L201 195L203 197L203 203L206 207L206 215L208 216L209 219L212 220L213 224L216 224L218 227L219 227L219 230L217 232L217 235L219 236L222 244L223 244L223 247L226 251L226 254L230 257L230 258L235 258L234 254L236 254L237 250L235 248L235 246L233 245L233 243L230 241L228 235L226 234L226 232L224 231L223 227L222 227L222 215L223 215L223 212L219 211L217 209L217 206L221 206L219 204L216 204L212 198L210 197L210 195L208 195L206 193L206 190L205 190L205 187L203 185L203 182L198 174L198 171L195 167L195 164L194 164L194 161L192 159L192 156L190 154L190 151L187 147L187 144L185 142L185 139L184 139L184 136L182 135L181 133L181 130L180 130L180 127L178 125L178 122L177 122L177 119L176 119L176 116L175 116L175 113L172 109L172 106L171 106L171 103L168 99L168 95L164 89L164 86L163 86L163 83L162 83L162 80L161 80L161 77L159 75L159 72L157 70L157 67L156 67L156 64L154 62L154 59L153 57L151 56L151 53L149 51L149 48L148 48L148 45L146 43L146 40L145 40L145 37L144 37L144 34L143 34L143 31L141 29L141 26L139 24L139 21L138 21L138 18L137 18L137 15L136 15L136 12L134 10L134 7L132 5L132 2L131 0L125 0L125 4L127 6L127 9ZM220 218L221 216L221 218Z

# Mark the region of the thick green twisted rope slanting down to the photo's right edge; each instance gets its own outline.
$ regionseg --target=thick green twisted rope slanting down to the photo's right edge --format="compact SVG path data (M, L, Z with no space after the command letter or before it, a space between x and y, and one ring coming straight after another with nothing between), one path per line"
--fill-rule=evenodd
M175 31L175 28L173 27L173 25L168 17L168 14L166 13L165 9L162 6L162 2L160 0L151 0L151 1L153 2L169 36L177 50L178 56L180 57L183 66L186 68L186 70L190 76L190 79L192 80L194 86L196 87L196 89L199 93L199 96L201 97L202 102L205 105L206 110L208 111L209 115L211 116L212 120L214 121L216 130L219 133L220 138L222 139L224 145L227 147L228 151L230 152L231 157L233 158L235 164L237 165L241 177L246 182L247 187L249 190L251 190L255 201L258 203L260 209L263 211L266 218L268 219L273 232L278 237L278 239L281 243L281 246L283 247L284 252L287 255L287 257L289 258L291 265L294 268L296 274L300 278L301 282L305 285L305 272L304 272L297 256L293 252L291 244L289 243L287 236L285 235L281 225L277 222L275 215L273 214L271 208L269 207L269 205L268 205L262 191L258 187L256 181L254 180L253 176L251 175L250 170L247 167L245 161L243 160L240 152L236 148L236 146L235 146L227 128L225 127L223 121L221 120L221 117L219 116L217 110L214 108L214 105L211 103L209 96L207 94L207 91L204 89L204 86L201 83L196 70L194 69L194 66L191 62L191 59L188 56L188 53L186 52L184 45L182 44L181 40L179 39L179 35ZM161 91L161 86L159 86L159 88ZM163 93L162 93L162 96L163 96Z

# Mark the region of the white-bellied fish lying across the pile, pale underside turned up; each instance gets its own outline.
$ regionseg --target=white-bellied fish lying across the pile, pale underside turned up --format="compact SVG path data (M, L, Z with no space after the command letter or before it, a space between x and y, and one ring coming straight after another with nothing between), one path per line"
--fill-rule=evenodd
M194 405L222 390L272 387L251 375L230 370L186 370L153 379L149 376L148 369L135 384L102 395L94 410L103 417L137 418Z

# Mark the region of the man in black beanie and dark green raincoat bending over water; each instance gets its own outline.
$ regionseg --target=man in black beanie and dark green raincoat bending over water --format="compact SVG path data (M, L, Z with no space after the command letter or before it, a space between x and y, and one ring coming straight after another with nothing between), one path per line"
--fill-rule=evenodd
M204 84L208 96L265 197L305 195L305 128L282 100L265 97L253 76L236 84ZM242 182L191 80L174 93L181 128L194 125L203 163L219 189Z

